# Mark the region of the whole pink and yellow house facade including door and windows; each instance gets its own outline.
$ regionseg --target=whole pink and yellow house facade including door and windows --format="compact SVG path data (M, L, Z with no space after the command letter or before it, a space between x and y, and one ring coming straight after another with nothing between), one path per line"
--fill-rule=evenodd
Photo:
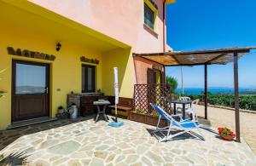
M67 94L121 97L133 85L160 83L164 67L132 53L169 51L165 8L174 0L0 1L0 129L34 117L55 117ZM149 68L149 72L148 72ZM151 69L151 70L150 70ZM162 80L162 81L160 81Z

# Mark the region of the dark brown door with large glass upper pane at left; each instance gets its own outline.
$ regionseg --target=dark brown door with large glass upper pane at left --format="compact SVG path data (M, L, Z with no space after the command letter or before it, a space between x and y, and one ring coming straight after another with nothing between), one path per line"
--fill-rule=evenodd
M49 116L49 65L13 60L12 121Z

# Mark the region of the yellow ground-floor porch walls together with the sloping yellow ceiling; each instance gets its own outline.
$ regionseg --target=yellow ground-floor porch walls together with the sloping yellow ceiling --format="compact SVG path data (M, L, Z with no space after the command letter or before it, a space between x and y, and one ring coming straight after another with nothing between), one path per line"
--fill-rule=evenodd
M15 1L11 2L16 4ZM17 4L26 5L24 2ZM100 60L99 65L96 65L96 89L113 95L113 67L117 66L120 96L132 97L135 73L128 45L43 8L27 5L32 9L26 11L0 1L0 22L3 23L0 26L0 70L7 68L0 75L4 77L0 81L0 90L7 91L5 97L0 99L0 129L6 129L11 123L12 60L30 60L50 65L50 117L55 117L58 106L66 107L67 94L71 91L81 93L80 56ZM57 41L62 45L59 52L55 50ZM54 54L56 59L49 61L9 55L7 47Z

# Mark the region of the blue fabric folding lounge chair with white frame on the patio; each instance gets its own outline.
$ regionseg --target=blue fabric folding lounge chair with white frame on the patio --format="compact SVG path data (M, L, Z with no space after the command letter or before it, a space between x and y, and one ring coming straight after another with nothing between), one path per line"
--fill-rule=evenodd
M201 124L197 123L195 121L191 121L189 119L181 119L180 122L177 122L177 120L175 120L173 117L179 117L179 116L175 116L175 115L169 115L168 113L166 113L160 106L156 106L152 103L150 103L150 105L154 108L155 111L157 111L160 114L156 129L154 130L154 135L158 138L158 136L156 135L157 132L159 132L161 135L164 136L164 138L158 139L158 141L166 141L166 140L172 140L172 138L176 137L177 135L183 135L185 133L189 134L189 135L193 135L201 140L205 140L204 136L201 134L200 131L200 127ZM169 123L169 126L166 126L164 128L159 128L159 124L160 124L160 118L163 117L164 119L166 119L166 121ZM179 129L182 130L181 132L178 132L175 135L171 135L171 129ZM192 132L192 129L197 129L199 135L195 135L194 132ZM165 135L163 133L163 131L167 131L167 134Z

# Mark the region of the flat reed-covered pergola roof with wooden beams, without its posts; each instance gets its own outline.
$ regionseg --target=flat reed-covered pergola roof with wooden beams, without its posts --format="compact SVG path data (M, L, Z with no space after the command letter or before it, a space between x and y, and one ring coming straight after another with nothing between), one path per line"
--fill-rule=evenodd
M143 57L147 60L161 63L164 66L203 66L205 64L226 65L227 63L233 61L230 60L230 56L232 57L234 52L236 52L238 54L238 58L240 58L243 54L249 53L251 49L256 49L256 47L207 49L196 51L176 51L146 54L133 53L133 57Z

